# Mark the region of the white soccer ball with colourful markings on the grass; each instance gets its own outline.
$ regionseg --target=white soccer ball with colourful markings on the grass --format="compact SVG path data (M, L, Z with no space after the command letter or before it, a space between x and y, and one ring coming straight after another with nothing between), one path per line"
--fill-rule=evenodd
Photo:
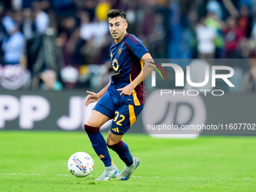
M93 171L93 158L84 152L77 152L69 157L69 172L78 178L84 178Z

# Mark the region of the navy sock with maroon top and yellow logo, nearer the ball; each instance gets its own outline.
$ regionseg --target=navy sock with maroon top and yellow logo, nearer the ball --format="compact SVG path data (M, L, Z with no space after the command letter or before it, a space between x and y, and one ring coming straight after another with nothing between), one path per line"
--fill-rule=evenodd
M102 133L99 131L99 128L84 124L84 130L89 136L93 149L96 152L96 154L99 156L99 159L102 160L105 166L111 166L112 160L108 152L105 139L102 136Z

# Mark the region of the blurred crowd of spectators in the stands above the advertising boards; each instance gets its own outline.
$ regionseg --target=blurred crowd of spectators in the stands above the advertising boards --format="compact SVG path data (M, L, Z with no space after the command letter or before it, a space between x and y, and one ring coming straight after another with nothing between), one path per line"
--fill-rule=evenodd
M0 90L104 87L111 8L155 59L233 59L236 90L256 91L256 0L2 0Z

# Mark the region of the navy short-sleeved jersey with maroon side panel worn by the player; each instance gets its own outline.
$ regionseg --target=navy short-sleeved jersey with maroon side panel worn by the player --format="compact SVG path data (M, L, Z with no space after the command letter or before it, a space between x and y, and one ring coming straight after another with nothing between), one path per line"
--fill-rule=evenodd
M129 105L142 105L145 103L145 88L143 81L139 84L131 96L120 96L119 88L130 84L142 71L142 56L148 53L147 48L135 35L126 33L122 41L110 47L111 66L114 75L111 77L111 85L108 87L111 95L117 96L121 102Z

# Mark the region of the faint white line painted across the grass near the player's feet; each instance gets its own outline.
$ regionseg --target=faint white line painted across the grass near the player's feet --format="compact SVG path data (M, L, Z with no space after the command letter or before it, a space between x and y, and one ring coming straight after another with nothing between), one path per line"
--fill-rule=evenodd
M6 173L2 173L1 175L28 175L28 176L46 176L46 174L40 174L40 173L8 173L8 172L6 172ZM72 176L71 174L56 174L56 176ZM92 176L92 175L91 175ZM93 175L93 176L96 176L96 177L98 177L98 176L100 176L100 175ZM142 177L142 176L131 176L132 178L154 178L154 179L157 179L157 178L160 178L160 179L174 179L175 177L172 177L172 178L168 178L168 177ZM180 177L179 179L187 179L187 178L199 178L199 177ZM231 180L233 180L233 179L241 179L241 178L231 178L231 177L229 177L229 178L223 178L223 177L220 177L220 178L204 178L204 179L231 179ZM245 179L245 180L250 180L250 179L256 179L256 178L250 178L250 177L248 177L248 178L242 178L242 179Z

